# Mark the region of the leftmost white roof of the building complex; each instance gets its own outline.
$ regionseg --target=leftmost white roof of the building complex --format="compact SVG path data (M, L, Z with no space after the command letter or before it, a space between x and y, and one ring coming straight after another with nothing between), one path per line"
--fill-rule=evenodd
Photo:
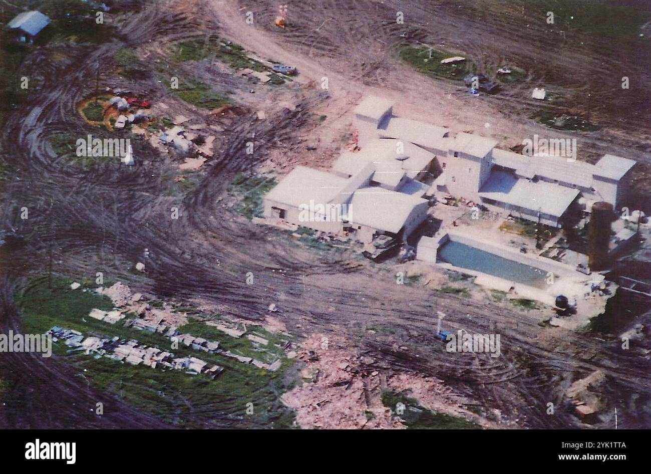
M298 207L310 200L326 204L339 193L348 180L318 169L297 166L267 193L265 199Z

